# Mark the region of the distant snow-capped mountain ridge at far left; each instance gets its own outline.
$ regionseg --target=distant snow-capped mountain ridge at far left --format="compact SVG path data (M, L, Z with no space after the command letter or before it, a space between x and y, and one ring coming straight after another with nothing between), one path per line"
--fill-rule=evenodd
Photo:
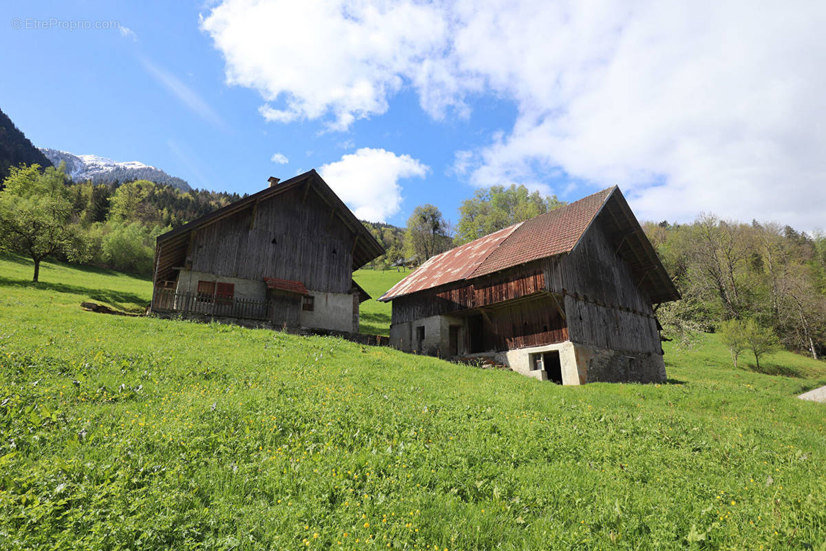
M92 180L94 183L112 183L128 182L130 180L142 179L150 180L154 183L165 183L175 188L188 191L189 184L181 178L169 176L161 169L156 169L149 164L143 164L138 161L127 161L121 163L113 161L106 157L99 157L97 155L76 155L68 151L50 150L48 148L40 148L40 151L45 154L46 159L49 159L55 166L63 161L66 164L66 173L72 177L75 182L83 182L84 180Z

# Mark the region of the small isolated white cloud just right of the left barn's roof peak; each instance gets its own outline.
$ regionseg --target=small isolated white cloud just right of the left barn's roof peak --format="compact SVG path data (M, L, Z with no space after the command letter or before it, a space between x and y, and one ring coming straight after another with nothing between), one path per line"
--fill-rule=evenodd
M364 147L325 164L319 173L360 220L383 222L401 208L403 178L424 178L430 167L410 155Z

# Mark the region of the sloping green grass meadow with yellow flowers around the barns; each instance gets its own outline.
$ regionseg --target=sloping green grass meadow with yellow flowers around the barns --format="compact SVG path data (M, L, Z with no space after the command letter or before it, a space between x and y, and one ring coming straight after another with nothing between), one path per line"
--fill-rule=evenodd
M0 260L2 549L823 549L823 363L709 335L672 384L559 387L26 274Z

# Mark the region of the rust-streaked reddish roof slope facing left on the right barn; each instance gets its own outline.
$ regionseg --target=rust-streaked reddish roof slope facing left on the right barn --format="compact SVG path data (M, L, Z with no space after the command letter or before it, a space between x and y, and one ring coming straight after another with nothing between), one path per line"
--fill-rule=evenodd
M615 188L534 216L428 259L378 300L424 291L445 283L477 278L531 260L567 253Z

